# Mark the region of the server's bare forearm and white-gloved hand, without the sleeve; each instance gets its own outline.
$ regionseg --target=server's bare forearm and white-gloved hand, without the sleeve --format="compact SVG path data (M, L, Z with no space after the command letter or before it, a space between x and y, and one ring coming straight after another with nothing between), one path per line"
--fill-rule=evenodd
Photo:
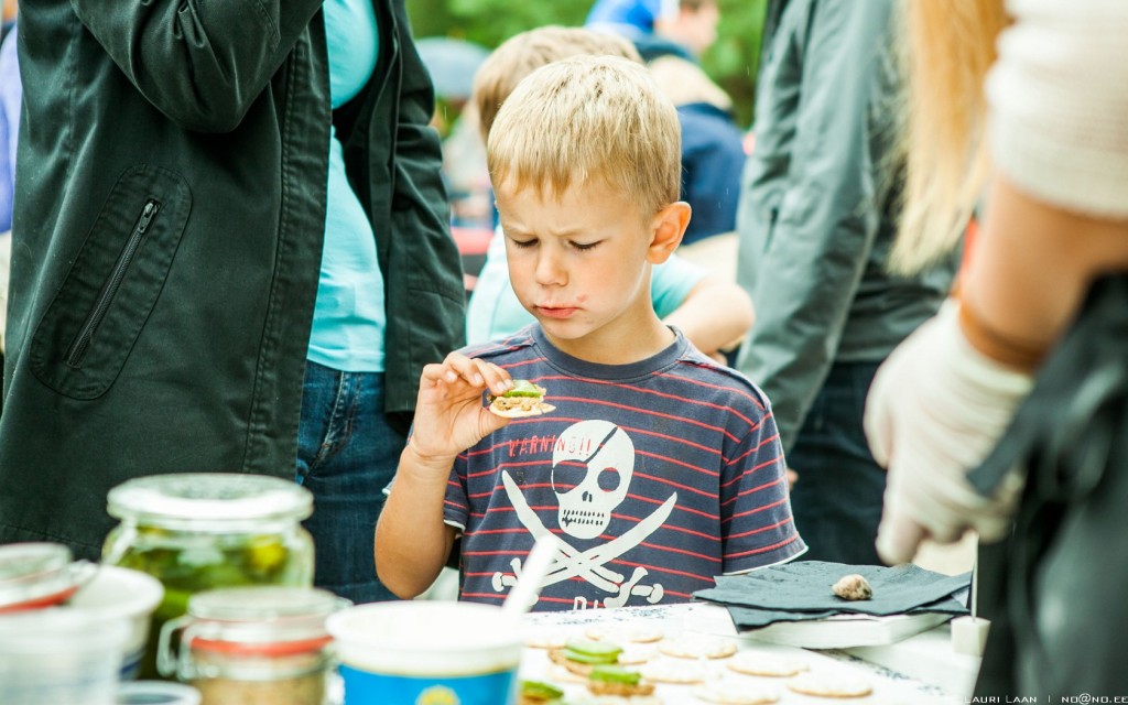
M910 561L924 538L1010 530L1022 476L982 496L964 473L980 462L1033 385L1092 281L1128 270L1128 220L1084 215L1020 192L1002 175L952 301L878 372L866 400L874 457L889 468L878 550Z

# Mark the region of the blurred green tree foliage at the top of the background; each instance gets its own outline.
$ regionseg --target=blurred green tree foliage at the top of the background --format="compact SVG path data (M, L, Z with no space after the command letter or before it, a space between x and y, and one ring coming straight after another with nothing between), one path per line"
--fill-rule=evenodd
M579 26L593 0L407 0L415 37L447 36L493 49L543 25ZM729 91L737 123L752 122L756 70L767 0L717 0L716 43L702 56L705 71Z

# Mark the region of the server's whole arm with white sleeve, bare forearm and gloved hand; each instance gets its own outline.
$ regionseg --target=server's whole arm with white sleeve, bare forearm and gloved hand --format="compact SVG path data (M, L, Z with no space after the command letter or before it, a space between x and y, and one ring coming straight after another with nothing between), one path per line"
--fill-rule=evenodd
M966 473L1011 424L1093 280L1128 271L1128 64L1117 30L1128 14L1117 2L1023 10L987 79L995 176L962 301L893 351L866 400L870 447L889 468L878 536L888 562L910 559L926 536L1006 535L1022 468L990 496Z

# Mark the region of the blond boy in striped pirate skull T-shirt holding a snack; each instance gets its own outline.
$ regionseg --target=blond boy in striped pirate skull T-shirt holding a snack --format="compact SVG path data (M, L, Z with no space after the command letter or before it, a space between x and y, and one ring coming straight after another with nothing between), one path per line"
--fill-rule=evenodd
M513 289L537 323L423 371L377 530L377 570L418 594L461 535L460 598L501 602L534 541L556 557L537 609L688 600L788 561L784 458L763 394L650 299L689 220L676 111L645 68L574 56L497 113L488 160ZM556 411L506 420L512 378Z

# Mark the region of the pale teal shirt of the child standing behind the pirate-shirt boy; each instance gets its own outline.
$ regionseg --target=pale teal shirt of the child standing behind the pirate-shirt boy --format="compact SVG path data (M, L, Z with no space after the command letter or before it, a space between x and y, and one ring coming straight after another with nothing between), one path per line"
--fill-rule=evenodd
M700 267L671 255L651 271L650 298L659 318L666 318L689 296L705 276ZM486 250L486 262L478 273L470 302L466 308L466 342L470 345L510 336L536 320L513 293L505 261L505 236L497 228Z

